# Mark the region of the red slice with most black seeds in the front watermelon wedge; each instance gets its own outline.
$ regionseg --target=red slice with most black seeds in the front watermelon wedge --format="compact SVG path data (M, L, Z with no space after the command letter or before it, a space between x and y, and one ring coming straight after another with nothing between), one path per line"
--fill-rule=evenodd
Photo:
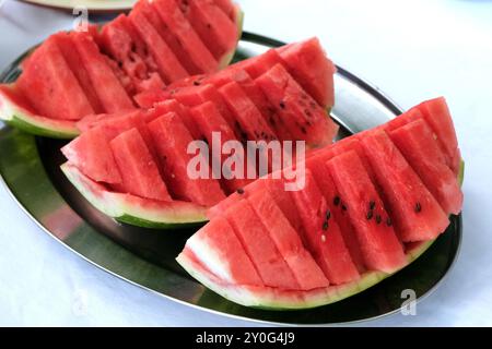
M393 221L359 155L347 152L327 161L340 196L333 204L348 217L368 269L391 273L407 262Z

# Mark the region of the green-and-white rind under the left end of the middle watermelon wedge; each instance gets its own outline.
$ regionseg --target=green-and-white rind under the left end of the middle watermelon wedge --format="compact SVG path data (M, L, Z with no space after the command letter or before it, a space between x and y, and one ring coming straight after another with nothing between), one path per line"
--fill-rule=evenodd
M160 203L112 192L68 163L60 168L85 200L119 222L153 229L175 229L201 226L207 221L207 207L181 201Z

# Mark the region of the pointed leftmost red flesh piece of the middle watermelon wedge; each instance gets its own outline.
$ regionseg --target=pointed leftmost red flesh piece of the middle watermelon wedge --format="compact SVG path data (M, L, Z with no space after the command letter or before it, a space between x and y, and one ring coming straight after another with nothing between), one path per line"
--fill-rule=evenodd
M120 184L121 174L103 128L82 133L61 148L67 159L96 182Z

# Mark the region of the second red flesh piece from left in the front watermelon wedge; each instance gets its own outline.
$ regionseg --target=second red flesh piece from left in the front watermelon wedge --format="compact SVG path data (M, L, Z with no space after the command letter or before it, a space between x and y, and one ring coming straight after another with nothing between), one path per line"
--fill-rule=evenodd
M301 287L248 201L224 213L266 286L298 290Z

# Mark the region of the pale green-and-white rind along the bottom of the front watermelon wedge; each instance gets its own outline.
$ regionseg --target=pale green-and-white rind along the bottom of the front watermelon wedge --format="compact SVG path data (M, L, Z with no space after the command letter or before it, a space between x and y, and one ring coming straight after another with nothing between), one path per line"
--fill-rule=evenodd
M458 183L462 185L465 178L465 161L460 161L459 171L457 173ZM204 285L210 290L224 297L225 299L235 303L257 308L265 310L300 310L311 309L321 305L328 305L349 297L355 296L376 284L379 284L389 276L403 269L406 266L419 258L435 242L435 240L423 241L412 250L407 252L407 264L394 273L383 272L368 272L362 275L361 279L354 282L331 286L325 289L318 289L314 291L292 291L290 294L279 294L273 288L261 287L253 288L224 285L216 282L216 278L209 277L209 272L203 269L196 262L191 261L185 253L180 253L176 261L179 265L188 272L195 279ZM284 292L289 293L289 292Z

